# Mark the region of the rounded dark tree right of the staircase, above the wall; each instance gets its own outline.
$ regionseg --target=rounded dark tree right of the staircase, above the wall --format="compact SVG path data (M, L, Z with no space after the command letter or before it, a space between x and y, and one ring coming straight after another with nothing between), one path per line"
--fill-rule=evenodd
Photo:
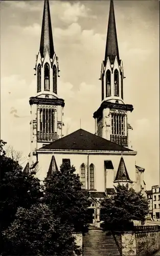
M132 228L132 220L145 220L148 214L148 201L141 191L118 184L116 193L101 202L101 218L106 230L125 230Z

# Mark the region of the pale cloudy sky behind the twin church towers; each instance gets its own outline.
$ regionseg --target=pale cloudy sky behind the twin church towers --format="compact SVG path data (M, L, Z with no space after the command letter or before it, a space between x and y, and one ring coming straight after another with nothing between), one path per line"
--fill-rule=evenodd
M1 1L1 139L30 152L30 104L39 51L43 1ZM136 164L145 168L147 189L159 184L159 1L115 0L124 101L133 105ZM80 128L95 133L101 104L109 1L50 1L54 48L59 58L58 95L65 100L63 135Z

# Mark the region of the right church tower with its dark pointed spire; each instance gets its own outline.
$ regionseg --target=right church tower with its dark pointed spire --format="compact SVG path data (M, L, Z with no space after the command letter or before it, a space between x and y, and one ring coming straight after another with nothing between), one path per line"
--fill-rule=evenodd
M123 63L119 56L115 12L110 1L108 30L104 61L101 66L102 101L94 113L95 134L117 144L131 147L128 136L132 127L128 123L128 112L133 106L124 103Z

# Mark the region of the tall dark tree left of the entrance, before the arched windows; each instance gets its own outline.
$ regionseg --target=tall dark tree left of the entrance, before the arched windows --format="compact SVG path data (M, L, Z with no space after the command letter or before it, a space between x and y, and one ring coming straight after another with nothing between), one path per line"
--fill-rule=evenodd
M78 232L87 227L87 207L90 205L81 185L79 175L70 163L62 164L60 171L44 181L44 203L62 223L73 226Z

